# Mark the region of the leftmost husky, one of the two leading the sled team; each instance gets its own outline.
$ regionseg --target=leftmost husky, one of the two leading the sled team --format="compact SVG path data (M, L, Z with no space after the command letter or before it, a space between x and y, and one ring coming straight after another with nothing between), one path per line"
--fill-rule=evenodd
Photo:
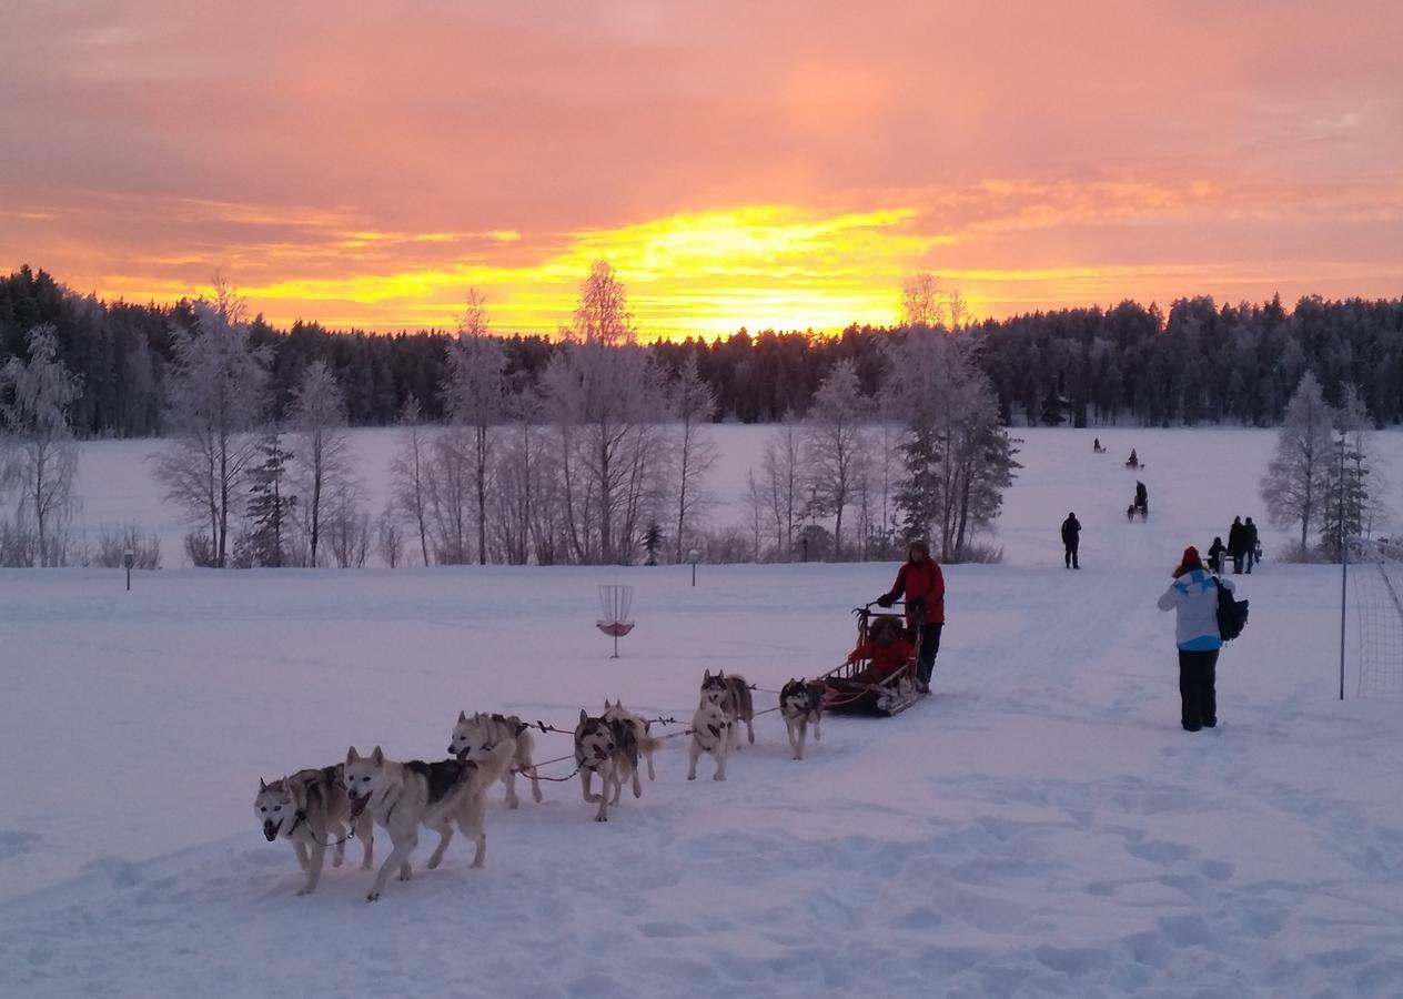
M345 860L347 828L342 824L351 815L351 803L341 786L340 765L321 770L297 770L271 784L260 777L254 815L262 822L264 836L269 843L279 836L292 843L297 866L307 871L307 883L302 885L299 895L310 895L317 890L328 846L335 847L333 867L340 867ZM375 860L375 825L366 815L356 819L354 826L365 847L361 870L370 870Z

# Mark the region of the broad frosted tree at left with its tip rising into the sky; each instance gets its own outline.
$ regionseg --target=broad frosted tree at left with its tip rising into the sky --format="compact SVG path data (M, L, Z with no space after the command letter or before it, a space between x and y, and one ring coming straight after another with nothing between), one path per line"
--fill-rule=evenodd
M237 515L241 484L258 457L267 413L268 351L254 348L240 300L216 285L213 302L195 303L192 330L175 328L175 358L167 376L166 425L173 441L156 456L166 498L209 530L191 550L210 565L229 564L229 522Z

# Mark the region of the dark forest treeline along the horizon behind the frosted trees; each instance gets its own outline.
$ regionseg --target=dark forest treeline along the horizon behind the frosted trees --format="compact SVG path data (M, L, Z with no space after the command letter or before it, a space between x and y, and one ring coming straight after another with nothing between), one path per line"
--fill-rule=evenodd
M25 333L52 323L63 361L81 376L72 414L80 434L161 432L173 327L188 327L191 303L101 303L74 295L43 271L0 278L0 362L22 354ZM345 387L355 425L396 421L410 396L429 420L442 417L445 348L450 333L333 333L316 323L275 330L254 319L253 340L272 348L274 415L281 417L307 365L324 359ZM650 347L669 370L699 352L718 417L769 422L803 415L814 391L845 358L864 391L881 394L882 341L891 330L850 327L839 337L749 334ZM979 341L979 365L993 382L1005 422L1094 427L1235 422L1270 427L1306 370L1337 404L1355 384L1379 425L1403 422L1403 300L1301 299L1215 306L1176 302L1164 316L1122 302L1110 310L1065 309L986 320L958 335ZM509 373L535 382L556 349L546 337L504 337Z

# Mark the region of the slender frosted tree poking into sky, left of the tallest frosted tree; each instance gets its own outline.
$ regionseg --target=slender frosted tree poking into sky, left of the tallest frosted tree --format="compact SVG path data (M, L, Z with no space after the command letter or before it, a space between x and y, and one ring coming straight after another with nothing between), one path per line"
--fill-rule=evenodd
M487 564L487 491L492 467L492 431L506 415L506 351L487 334L487 309L477 289L467 292L467 309L457 340L448 348L443 405L449 421L471 439L473 515L477 521L477 560Z

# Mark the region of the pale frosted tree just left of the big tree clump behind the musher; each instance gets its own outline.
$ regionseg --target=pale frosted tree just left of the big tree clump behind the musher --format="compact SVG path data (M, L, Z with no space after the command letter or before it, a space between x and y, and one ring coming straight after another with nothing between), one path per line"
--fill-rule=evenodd
M845 554L843 514L857 484L863 425L871 408L857 382L856 362L843 358L818 386L804 421L815 512L833 518L832 556L839 561Z

